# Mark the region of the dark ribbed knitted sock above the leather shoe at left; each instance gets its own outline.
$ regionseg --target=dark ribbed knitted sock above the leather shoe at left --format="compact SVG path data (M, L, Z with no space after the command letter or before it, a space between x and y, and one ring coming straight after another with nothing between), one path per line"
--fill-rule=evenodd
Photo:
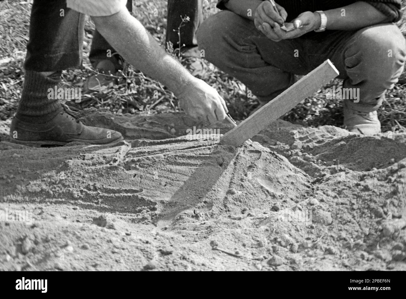
M54 89L60 82L61 71L49 76L26 70L21 100L16 117L24 122L43 124L52 120L63 110L57 98L48 98L48 89Z

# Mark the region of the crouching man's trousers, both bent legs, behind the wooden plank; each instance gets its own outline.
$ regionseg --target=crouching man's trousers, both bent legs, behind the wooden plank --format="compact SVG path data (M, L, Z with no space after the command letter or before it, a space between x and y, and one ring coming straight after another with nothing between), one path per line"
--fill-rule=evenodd
M198 31L205 58L240 79L261 100L271 100L290 84L290 74L306 74L330 59L344 87L359 88L359 111L374 111L393 87L405 62L405 39L394 24L359 31L330 31L315 40L274 42L253 22L230 11L209 17ZM390 55L389 55L390 54Z

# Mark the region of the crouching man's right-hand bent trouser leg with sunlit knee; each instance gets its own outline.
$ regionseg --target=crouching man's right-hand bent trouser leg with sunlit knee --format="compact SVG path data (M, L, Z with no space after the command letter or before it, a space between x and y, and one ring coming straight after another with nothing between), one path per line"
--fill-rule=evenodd
M344 88L359 88L358 111L377 110L387 89L393 88L404 70L406 41L395 24L378 24L353 32L343 39L343 49L328 58L343 74Z

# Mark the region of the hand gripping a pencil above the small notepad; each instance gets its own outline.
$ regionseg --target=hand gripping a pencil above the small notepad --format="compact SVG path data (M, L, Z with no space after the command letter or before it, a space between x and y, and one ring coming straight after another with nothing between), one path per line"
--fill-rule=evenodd
M255 27L268 38L274 41L280 41L281 38L273 33L272 30L270 31L269 28L272 29L275 26L279 26L280 28L280 26L283 26L287 18L287 12L279 4L276 4L276 8L278 11L275 11L270 1L263 1L255 11L254 24Z

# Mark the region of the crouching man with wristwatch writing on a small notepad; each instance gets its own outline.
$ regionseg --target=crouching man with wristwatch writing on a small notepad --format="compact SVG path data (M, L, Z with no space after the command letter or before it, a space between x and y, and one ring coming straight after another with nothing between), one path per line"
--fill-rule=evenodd
M240 79L262 104L330 59L343 89L344 125L365 135L380 133L377 110L402 74L405 39L392 22L401 0L220 0L220 13L200 26L205 58ZM284 22L294 28L285 31ZM351 93L347 93L351 94Z

